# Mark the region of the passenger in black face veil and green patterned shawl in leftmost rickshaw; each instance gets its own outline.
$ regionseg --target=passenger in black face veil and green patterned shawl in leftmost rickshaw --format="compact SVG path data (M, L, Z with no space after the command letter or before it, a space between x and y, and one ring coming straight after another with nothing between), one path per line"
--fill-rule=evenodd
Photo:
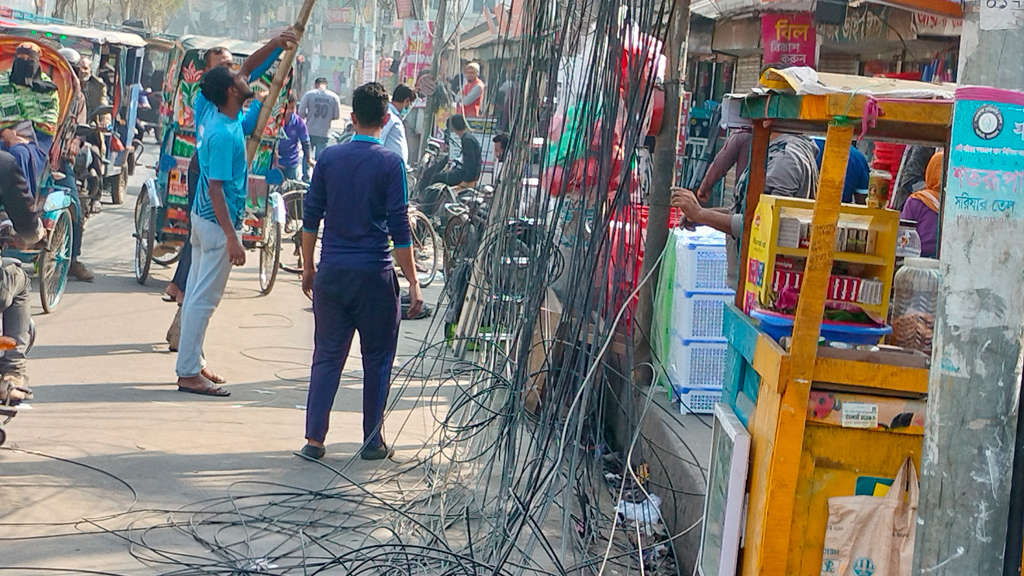
M10 71L0 72L0 128L28 120L46 151L56 133L60 99L56 84L40 69L41 56L38 45L24 42L14 51Z

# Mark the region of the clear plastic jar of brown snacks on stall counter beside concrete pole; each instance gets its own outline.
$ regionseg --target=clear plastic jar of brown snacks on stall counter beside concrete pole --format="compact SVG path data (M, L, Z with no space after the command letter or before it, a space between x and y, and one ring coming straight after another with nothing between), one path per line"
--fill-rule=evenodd
M892 342L932 356L939 260L905 258L893 279Z

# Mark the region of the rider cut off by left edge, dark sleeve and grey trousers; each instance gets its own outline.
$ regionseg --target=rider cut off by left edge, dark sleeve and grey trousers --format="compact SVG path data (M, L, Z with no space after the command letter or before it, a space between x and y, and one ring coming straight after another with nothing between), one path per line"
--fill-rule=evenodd
M29 181L22 173L17 161L6 152L0 152L0 203L6 216L0 229L9 220L14 232L29 244L36 244L45 236L39 213L33 211L35 198ZM32 389L25 376L25 352L31 338L32 307L29 288L32 281L17 261L4 260L0 265L0 314L3 316L3 335L14 339L17 346L0 358L0 401L17 404L32 400Z

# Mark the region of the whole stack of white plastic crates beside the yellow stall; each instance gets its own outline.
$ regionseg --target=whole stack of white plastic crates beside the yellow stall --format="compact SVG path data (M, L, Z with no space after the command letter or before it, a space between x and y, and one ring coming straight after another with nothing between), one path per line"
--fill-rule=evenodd
M709 228L676 234L666 373L682 414L711 414L722 398L726 338L725 305L735 291L728 285L725 235Z

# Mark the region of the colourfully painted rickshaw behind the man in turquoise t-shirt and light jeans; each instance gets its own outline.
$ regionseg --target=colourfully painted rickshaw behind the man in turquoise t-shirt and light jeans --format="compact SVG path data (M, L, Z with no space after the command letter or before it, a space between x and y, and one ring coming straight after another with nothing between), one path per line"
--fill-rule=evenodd
M227 38L185 36L171 51L164 83L163 143L157 177L142 186L135 206L135 280L145 284L153 262L171 265L188 242L188 163L196 150L194 106L206 63L206 51L223 46L244 60L260 45ZM265 94L276 71L274 64L252 86ZM259 151L249 170L249 200L242 230L242 243L248 250L258 249L260 291L269 294L281 261L281 228L285 208L281 194L280 170L271 170L276 134L284 118L285 100L291 89L291 76L273 99L273 110ZM264 105L265 106L265 105Z

